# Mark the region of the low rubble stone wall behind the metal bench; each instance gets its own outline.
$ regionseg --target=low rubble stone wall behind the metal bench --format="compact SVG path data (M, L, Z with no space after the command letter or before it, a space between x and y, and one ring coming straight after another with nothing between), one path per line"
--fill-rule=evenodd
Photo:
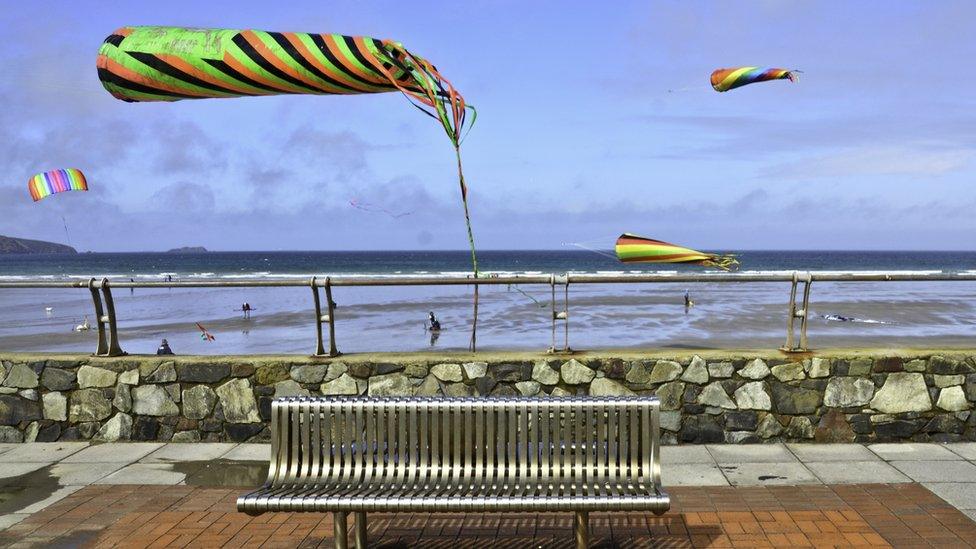
M290 395L653 394L674 443L976 440L976 351L92 358L0 354L0 442L261 441Z

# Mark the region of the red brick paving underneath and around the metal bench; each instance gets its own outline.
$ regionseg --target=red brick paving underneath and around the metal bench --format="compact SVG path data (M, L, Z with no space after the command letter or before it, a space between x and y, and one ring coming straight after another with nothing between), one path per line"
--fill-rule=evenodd
M329 546L326 514L234 509L244 488L92 485L10 527L0 546ZM672 509L594 513L598 547L968 547L976 523L919 484L674 487ZM569 547L569 514L374 514L376 547Z

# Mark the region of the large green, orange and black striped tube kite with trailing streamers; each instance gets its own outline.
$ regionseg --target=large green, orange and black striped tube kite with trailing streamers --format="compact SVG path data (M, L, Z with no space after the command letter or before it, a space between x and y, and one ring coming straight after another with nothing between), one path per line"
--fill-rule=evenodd
M471 107L434 65L399 42L340 34L123 27L99 49L98 77L112 95L131 102L402 92L441 123L454 145L477 275L460 153Z

